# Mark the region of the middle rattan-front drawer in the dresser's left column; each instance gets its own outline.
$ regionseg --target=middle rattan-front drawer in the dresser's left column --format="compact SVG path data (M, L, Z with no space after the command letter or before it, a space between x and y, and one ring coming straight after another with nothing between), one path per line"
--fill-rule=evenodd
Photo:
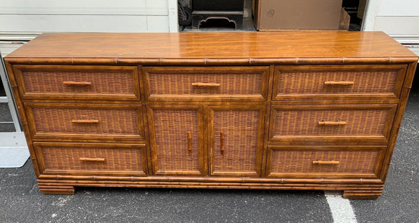
M144 140L141 105L24 103L34 139Z

